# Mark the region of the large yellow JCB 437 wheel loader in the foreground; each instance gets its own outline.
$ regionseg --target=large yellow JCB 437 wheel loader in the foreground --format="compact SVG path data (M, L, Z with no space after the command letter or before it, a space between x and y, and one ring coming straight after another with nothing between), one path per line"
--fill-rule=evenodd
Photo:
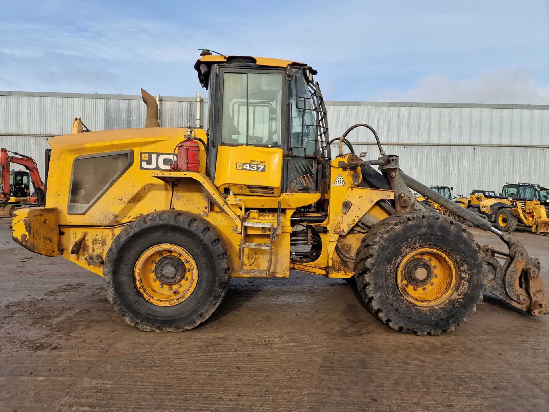
M104 276L116 311L147 331L199 325L231 277L291 270L353 277L379 320L418 335L462 324L483 292L547 314L539 261L517 240L404 174L371 126L329 139L310 66L205 51L194 68L209 90L207 131L159 127L143 91L149 127L52 138L46 207L16 211L14 239ZM357 127L373 132L378 159L352 153ZM509 251L481 249L410 189Z

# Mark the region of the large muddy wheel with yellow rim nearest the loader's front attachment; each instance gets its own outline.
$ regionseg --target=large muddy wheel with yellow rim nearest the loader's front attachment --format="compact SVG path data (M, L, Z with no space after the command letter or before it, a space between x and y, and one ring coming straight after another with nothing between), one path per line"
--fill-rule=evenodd
M372 227L358 248L355 270L362 300L379 320L405 333L439 335L475 312L483 265L478 243L462 225L408 212Z

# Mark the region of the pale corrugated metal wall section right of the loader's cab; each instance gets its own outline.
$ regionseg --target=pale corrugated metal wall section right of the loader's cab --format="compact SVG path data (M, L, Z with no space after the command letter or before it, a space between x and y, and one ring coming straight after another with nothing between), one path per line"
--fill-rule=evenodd
M386 153L426 185L500 191L506 182L549 185L549 106L329 102L330 137L367 123ZM355 153L376 158L372 133L352 131ZM332 147L332 155L337 154ZM347 151L345 151L347 152Z

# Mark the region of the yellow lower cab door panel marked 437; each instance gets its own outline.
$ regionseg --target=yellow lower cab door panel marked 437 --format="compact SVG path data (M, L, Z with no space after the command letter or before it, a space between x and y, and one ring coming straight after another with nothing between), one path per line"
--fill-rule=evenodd
M280 148L220 146L217 149L215 185L234 194L278 196L282 181Z

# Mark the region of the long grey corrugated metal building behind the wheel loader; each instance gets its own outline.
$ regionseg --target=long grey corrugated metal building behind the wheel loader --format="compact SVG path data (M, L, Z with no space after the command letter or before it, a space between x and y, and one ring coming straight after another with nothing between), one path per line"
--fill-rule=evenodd
M162 126L194 125L195 97L157 99ZM368 123L385 152L400 154L402 169L427 185L455 194L516 181L549 185L549 105L327 102L327 110L330 137ZM201 112L207 123L207 99ZM75 117L91 130L142 127L145 105L141 96L0 91L0 147L31 155L43 173L48 139L70 133ZM349 140L376 158L369 133L358 129Z

